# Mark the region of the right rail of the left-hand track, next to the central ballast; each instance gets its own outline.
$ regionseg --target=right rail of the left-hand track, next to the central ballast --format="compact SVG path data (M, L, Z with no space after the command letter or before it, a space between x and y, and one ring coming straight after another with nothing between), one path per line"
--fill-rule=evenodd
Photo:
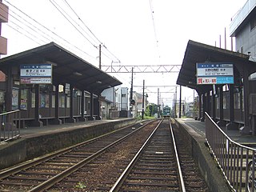
M152 122L152 121L150 121ZM108 146L105 146L101 150L98 150L98 152L91 154L89 157L83 159L81 162L78 162L74 166L70 166L70 168L62 171L61 173L55 175L54 177L50 178L46 182L42 182L38 186L35 186L33 189L29 190L29 192L40 192L49 189L51 186L54 186L57 182L62 181L63 178L66 178L70 174L74 173L78 169L80 169L82 166L85 166L88 162L92 161L94 158L97 158L100 154L104 153L106 150L108 150L111 146L116 145L118 142L121 142L122 140L130 137L130 135L135 134L138 130L141 130L144 126L148 125L150 122L146 123L145 125L139 127L138 129L132 131L130 134L126 134L124 137L119 138L115 142L110 143Z

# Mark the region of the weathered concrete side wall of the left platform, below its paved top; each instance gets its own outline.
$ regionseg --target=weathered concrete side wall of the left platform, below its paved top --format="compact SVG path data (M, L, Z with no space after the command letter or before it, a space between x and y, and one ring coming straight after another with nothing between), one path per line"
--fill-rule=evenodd
M19 162L48 154L54 150L60 150L78 142L84 142L90 138L117 130L120 127L128 126L134 122L134 118L116 120L94 126L67 130L65 132L42 134L33 138L18 138L16 141L1 144L0 170L18 164Z

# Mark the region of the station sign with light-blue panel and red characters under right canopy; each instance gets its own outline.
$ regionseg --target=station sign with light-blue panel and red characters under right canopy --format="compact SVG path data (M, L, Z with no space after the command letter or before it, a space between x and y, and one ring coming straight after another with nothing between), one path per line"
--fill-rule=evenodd
M197 84L234 84L233 64L220 62L197 63Z

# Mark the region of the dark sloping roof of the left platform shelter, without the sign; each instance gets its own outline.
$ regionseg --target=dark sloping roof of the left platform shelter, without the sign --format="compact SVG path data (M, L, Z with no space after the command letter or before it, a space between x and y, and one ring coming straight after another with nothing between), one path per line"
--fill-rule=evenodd
M0 70L5 72L13 66L43 63L53 64L54 85L69 83L79 90L101 94L102 90L122 84L118 79L54 42L2 58Z

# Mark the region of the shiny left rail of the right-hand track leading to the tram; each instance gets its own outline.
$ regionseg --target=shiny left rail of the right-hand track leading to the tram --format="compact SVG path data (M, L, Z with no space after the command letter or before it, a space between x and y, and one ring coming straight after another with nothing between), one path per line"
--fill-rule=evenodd
M137 154L135 154L134 158L130 161L129 165L126 166L126 169L122 172L122 174L120 175L118 180L111 187L110 192L118 191L120 189L120 187L122 186L122 183L126 180L128 174L130 173L130 170L132 170L132 168L134 167L135 163L137 162L139 156L142 154L142 150L144 150L146 145L148 144L148 142L150 142L150 139L152 138L152 136L154 135L154 132L158 129L158 127L160 126L162 121L163 121L163 119L161 120L161 122L158 123L158 126L156 126L154 128L154 130L150 134L149 138L146 139L146 142L144 142L142 147L138 150Z

